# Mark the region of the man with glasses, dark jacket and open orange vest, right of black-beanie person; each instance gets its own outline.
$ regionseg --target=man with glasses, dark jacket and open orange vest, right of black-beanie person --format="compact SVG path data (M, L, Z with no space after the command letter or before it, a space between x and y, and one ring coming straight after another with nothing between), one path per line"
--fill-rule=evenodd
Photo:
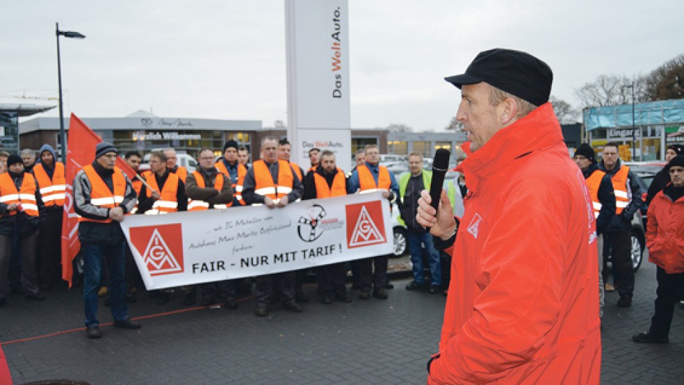
M617 143L603 147L603 159L599 170L612 181L615 193L615 215L605 229L612 249L613 280L620 295L617 306L632 306L634 293L634 266L631 258L631 222L634 213L642 205L642 190L637 177L628 166L621 163ZM605 277L604 281L605 281Z

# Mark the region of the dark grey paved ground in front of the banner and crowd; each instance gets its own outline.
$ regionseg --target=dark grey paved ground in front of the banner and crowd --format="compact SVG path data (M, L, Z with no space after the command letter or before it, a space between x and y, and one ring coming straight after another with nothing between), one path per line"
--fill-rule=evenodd
M275 307L253 315L246 297L236 311L187 308L174 293L165 306L138 295L131 316L139 331L104 324L91 341L82 329L78 290L51 290L48 300L10 295L0 309L0 341L15 384L75 379L91 384L424 384L425 361L437 349L443 295L413 293L406 259L392 260L389 300L304 304L304 313ZM603 384L684 384L684 309L667 345L630 341L653 312L655 268L637 272L630 309L608 293L603 325ZM307 286L313 295L312 286ZM101 308L101 322L111 320Z

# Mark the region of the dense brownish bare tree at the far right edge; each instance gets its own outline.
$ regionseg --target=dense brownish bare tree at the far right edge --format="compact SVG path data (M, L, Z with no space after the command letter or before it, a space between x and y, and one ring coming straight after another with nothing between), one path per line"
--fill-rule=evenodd
M653 69L644 79L649 100L684 98L684 54Z

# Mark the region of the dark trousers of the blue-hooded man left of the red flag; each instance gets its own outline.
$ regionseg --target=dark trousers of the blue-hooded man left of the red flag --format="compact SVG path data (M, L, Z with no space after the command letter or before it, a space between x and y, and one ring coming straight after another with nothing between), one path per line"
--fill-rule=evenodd
M40 257L38 266L38 281L51 285L62 278L60 265L62 261L62 215L63 211L51 209L40 214Z

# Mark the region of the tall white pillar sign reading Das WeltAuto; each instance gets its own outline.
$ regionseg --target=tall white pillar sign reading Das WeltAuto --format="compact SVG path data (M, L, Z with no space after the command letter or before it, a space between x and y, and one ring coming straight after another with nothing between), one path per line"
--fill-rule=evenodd
M287 136L292 161L329 149L351 170L347 0L285 0Z

